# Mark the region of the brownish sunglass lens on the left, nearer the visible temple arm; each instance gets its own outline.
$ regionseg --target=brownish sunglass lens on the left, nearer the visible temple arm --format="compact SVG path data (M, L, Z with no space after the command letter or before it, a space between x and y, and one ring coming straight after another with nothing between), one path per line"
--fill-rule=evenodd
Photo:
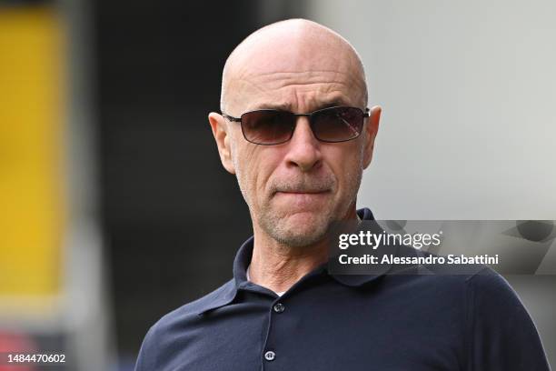
M253 111L242 115L243 136L257 145L278 145L290 140L295 116L281 111Z

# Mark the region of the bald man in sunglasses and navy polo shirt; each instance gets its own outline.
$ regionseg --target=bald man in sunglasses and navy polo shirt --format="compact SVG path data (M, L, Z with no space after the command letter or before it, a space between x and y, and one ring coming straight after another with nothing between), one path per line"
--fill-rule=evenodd
M381 115L366 107L361 59L322 25L268 25L233 50L209 122L253 237L232 280L149 330L137 371L548 369L531 318L491 271L328 273L333 222L372 220L355 207Z

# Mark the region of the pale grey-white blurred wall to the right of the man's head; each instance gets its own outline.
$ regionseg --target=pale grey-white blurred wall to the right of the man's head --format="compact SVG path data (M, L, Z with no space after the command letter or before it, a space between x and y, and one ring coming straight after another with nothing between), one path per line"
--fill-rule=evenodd
M381 219L556 219L556 2L311 0L362 55Z

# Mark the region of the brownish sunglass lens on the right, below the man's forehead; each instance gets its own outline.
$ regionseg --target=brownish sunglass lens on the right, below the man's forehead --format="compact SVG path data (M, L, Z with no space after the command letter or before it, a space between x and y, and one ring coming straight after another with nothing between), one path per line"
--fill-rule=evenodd
M355 107L333 107L313 114L313 132L324 142L343 142L361 134L363 112Z

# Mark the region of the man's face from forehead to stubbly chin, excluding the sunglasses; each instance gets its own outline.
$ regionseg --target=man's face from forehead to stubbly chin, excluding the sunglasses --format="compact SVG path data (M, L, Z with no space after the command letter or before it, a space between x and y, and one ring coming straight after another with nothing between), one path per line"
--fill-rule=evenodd
M275 44L259 46L234 68L226 114L262 108L308 113L329 105L364 109L364 82L343 45L283 46L283 53ZM314 137L308 117L299 117L292 139L281 145L254 145L243 138L239 123L222 124L231 157L226 168L237 176L255 233L285 246L308 246L323 238L333 220L354 216L362 170L372 154L369 123L354 140L324 143Z

